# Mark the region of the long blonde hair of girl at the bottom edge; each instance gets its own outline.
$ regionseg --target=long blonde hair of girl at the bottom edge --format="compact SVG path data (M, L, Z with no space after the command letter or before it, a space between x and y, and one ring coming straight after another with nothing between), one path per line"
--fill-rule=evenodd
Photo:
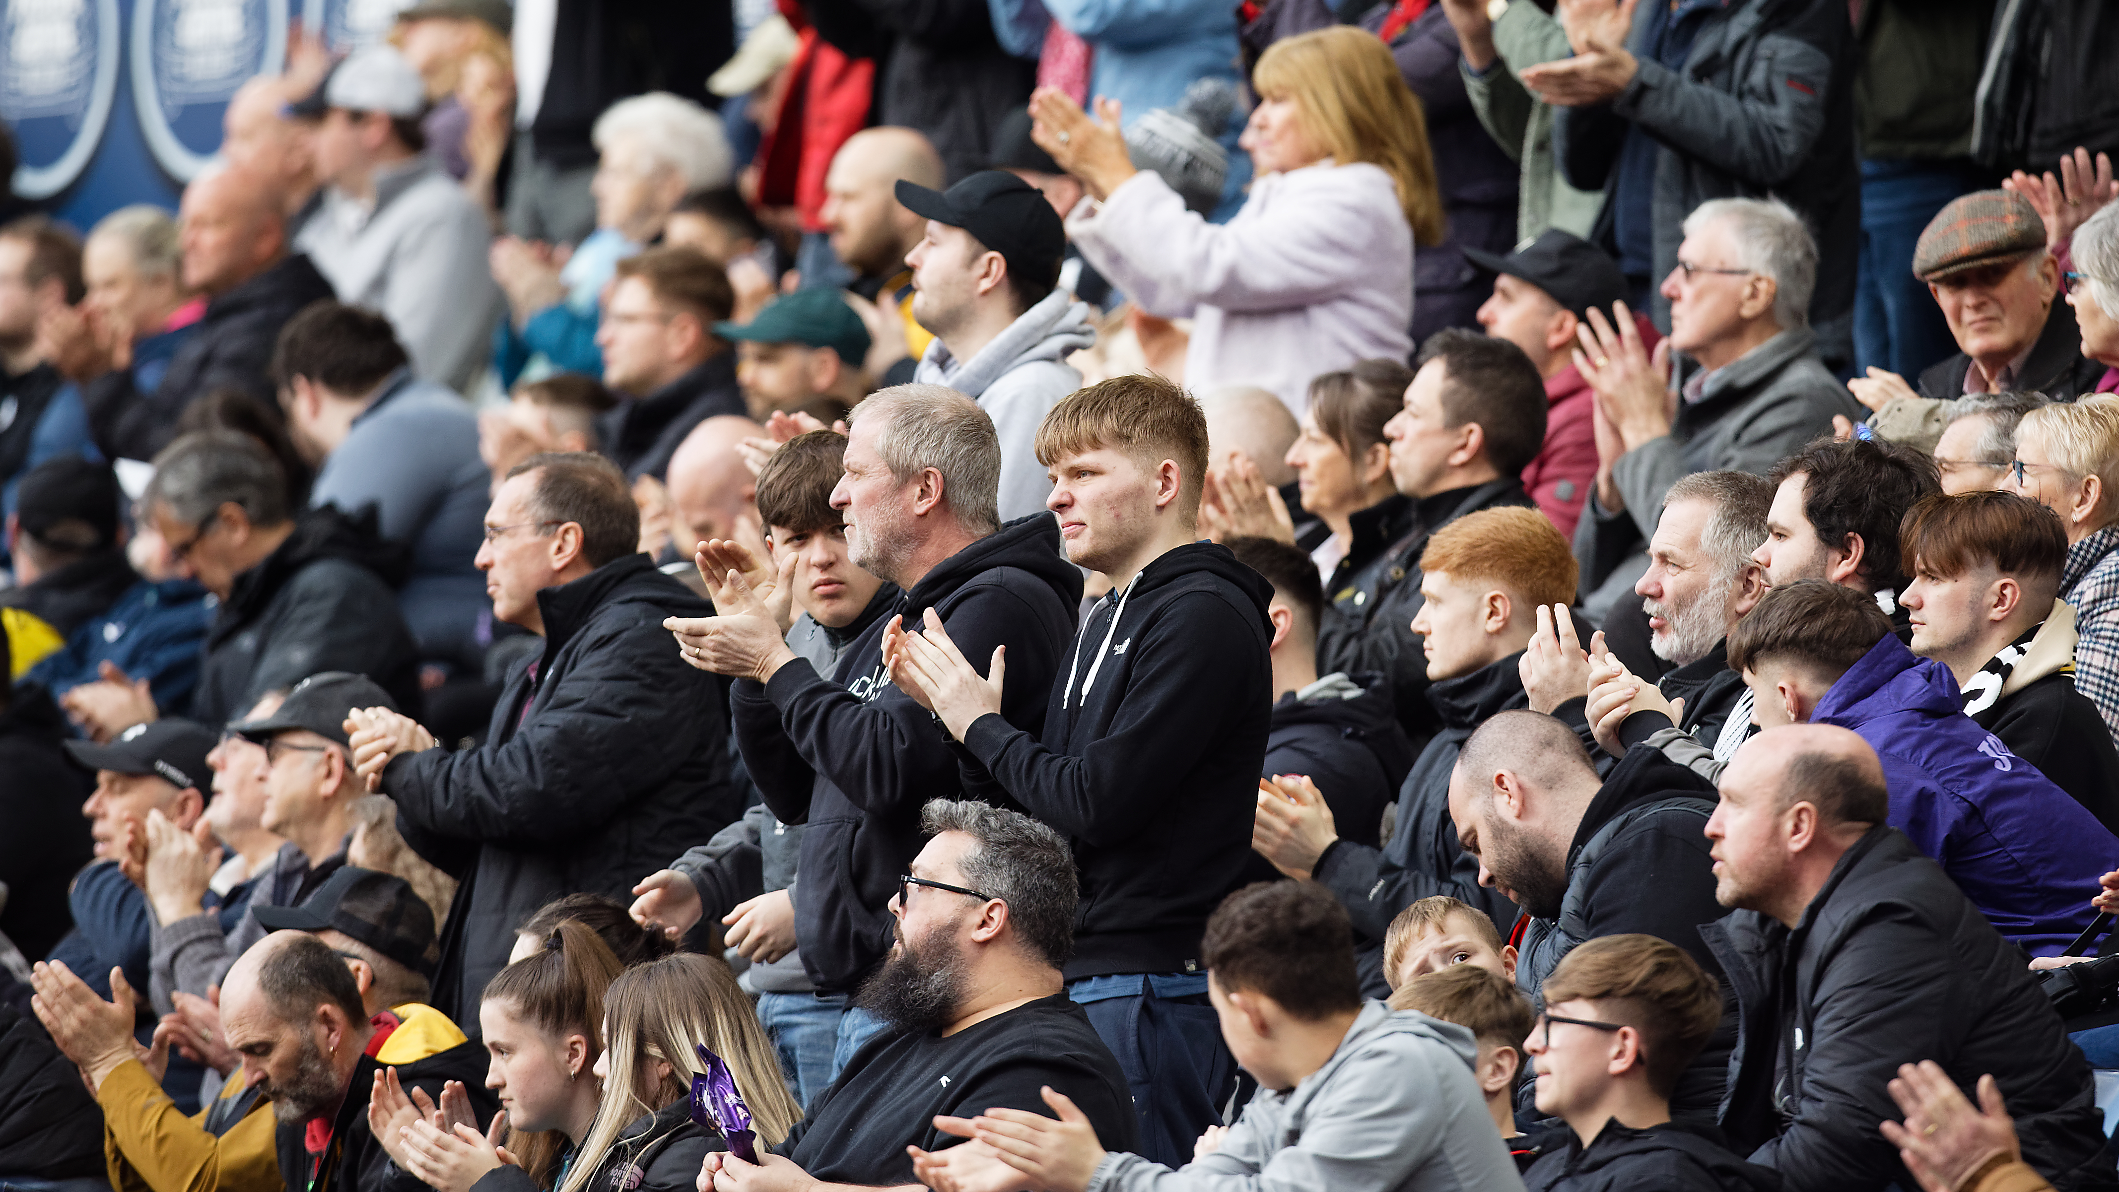
M693 1073L704 1071L693 1052L697 1044L729 1063L735 1088L750 1105L759 1143L778 1145L788 1137L801 1107L788 1095L780 1056L765 1040L750 997L720 959L678 953L625 970L604 993L610 1076L595 1124L559 1192L583 1192L627 1124L691 1095ZM653 1078L657 1059L670 1065L670 1076L659 1082Z

